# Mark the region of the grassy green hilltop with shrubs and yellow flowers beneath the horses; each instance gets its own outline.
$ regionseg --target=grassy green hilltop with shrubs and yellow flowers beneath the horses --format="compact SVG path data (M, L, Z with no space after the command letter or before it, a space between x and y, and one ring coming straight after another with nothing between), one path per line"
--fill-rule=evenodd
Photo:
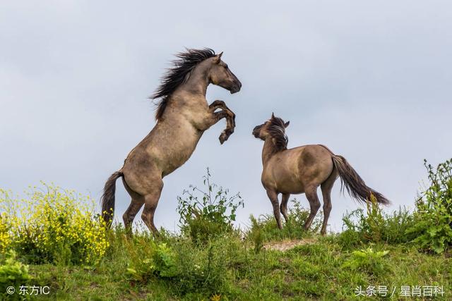
M0 190L3 300L452 300L452 161L426 164L430 186L414 212L384 213L372 197L342 233L310 231L293 202L232 226L242 198L206 176L179 197L181 232L106 229L93 200L44 185ZM44 290L42 290L44 289ZM20 294L22 293L22 294ZM33 294L33 295L30 295Z

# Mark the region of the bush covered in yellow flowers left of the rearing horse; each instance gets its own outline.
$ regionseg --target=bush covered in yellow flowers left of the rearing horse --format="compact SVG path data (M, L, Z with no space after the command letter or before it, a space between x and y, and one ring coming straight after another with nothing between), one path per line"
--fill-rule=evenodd
M93 264L108 247L105 225L95 215L90 197L45 185L31 188L28 198L0 190L0 235L8 247L33 263ZM2 244L3 245L3 244Z

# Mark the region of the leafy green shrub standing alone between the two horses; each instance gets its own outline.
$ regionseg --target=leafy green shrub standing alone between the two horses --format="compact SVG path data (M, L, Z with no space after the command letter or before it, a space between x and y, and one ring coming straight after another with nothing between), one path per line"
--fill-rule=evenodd
M206 242L223 233L232 231L235 211L244 207L239 193L230 195L229 190L211 182L209 169L203 177L204 189L190 186L182 197L177 197L182 233L196 242Z

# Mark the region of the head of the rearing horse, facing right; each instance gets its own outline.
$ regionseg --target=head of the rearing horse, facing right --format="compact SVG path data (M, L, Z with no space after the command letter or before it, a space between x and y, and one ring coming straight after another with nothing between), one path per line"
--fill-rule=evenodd
M211 59L209 70L210 82L212 82L213 85L218 85L229 90L231 94L239 92L242 87L242 82L240 82L237 76L235 76L230 68L227 67L227 63L221 60L222 54L223 53L221 52Z

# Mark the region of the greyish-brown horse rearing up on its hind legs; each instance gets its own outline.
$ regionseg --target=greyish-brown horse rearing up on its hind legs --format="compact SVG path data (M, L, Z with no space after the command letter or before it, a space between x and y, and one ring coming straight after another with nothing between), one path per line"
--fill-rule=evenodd
M105 183L101 198L102 217L111 224L117 178L131 196L131 204L122 216L126 229L144 204L141 219L150 231L157 233L154 212L157 208L162 178L182 166L194 152L204 131L225 118L227 127L220 135L222 144L234 132L235 114L224 102L208 104L208 85L218 85L231 94L239 92L242 83L221 60L222 53L212 49L187 49L177 54L179 60L162 78L162 84L150 98L160 99L155 113L157 124L131 150L124 166ZM217 111L220 109L220 111Z

